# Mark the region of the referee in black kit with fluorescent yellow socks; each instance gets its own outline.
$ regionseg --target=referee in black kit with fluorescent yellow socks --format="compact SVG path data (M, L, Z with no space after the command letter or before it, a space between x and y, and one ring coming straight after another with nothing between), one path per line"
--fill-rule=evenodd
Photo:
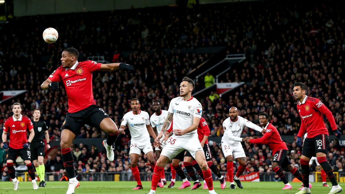
M45 166L43 164L43 158L45 155L45 143L43 139L46 137L47 140L47 149L50 149L49 145L49 134L48 134L48 126L46 122L40 120L41 111L36 108L33 110L33 129L35 132L35 136L30 144L30 151L31 151L31 158L33 161L33 165L36 168L36 172L38 177L40 178L40 187L45 187Z

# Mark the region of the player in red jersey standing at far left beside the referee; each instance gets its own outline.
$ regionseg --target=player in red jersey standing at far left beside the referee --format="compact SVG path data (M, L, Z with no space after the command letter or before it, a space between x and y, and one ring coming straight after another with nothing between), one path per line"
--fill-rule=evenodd
M28 167L28 173L31 178L32 186L34 190L38 189L38 185L35 181L35 170L31 164L31 153L30 153L30 143L35 136L33 125L29 117L23 116L21 113L21 105L19 103L14 103L12 105L13 116L6 119L3 124L2 132L2 148L8 149L6 159L7 159L7 169L12 178L14 191L18 190L19 181L16 177L16 170L13 167L13 161L16 161L19 155L26 166ZM29 139L27 139L27 129L30 132ZM7 145L7 133L10 134L10 145Z

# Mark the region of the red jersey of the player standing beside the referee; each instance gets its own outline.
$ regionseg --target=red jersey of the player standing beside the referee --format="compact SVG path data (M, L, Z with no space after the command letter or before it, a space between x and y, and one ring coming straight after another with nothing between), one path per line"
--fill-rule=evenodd
M29 117L20 115L17 120L14 116L6 119L3 124L3 130L10 133L10 147L13 149L21 149L28 142L26 130L33 129L33 125Z

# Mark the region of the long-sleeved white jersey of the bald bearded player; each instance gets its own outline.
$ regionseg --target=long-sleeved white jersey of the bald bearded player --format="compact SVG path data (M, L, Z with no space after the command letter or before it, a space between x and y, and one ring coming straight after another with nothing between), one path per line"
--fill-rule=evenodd
M228 144L233 146L241 144L240 141L242 141L242 138L240 138L240 136L244 127L248 127L259 132L263 130L261 127L241 116L237 116L237 120L235 122L232 122L230 117L228 117L223 122L224 135L221 140L226 141Z

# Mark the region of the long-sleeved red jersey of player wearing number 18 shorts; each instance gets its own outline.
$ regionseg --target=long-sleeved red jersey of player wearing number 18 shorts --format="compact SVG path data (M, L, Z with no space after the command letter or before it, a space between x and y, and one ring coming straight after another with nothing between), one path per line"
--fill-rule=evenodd
M328 135L323 115L327 117L332 130L337 129L332 112L318 98L305 96L302 103L297 103L297 110L302 120L298 137L302 138L306 131L308 133L307 138L313 138L321 134Z

